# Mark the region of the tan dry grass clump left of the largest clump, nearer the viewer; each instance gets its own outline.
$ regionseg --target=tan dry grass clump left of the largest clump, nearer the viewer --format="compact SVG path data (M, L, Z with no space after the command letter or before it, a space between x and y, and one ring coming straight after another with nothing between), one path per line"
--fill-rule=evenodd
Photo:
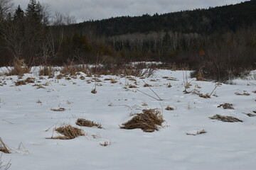
M55 128L54 129L56 132L60 133L61 135L64 136L58 136L58 137L50 137L48 139L54 139L54 140L72 140L75 137L78 136L84 136L85 132L79 128L75 128L71 125L63 125L60 126L60 128Z

